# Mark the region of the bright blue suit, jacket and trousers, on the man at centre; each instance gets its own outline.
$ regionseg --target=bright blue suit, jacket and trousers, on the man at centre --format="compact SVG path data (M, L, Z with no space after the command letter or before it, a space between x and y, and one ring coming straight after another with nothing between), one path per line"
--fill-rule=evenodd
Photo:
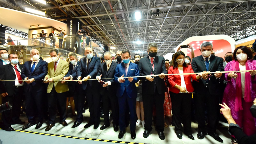
M115 68L115 75L114 81L118 83L117 87L117 93L116 96L118 97L118 104L119 104L119 126L120 130L124 131L125 130L125 109L126 109L126 104L129 106L129 111L130 111L130 130L134 131L135 130L135 125L136 125L136 98L137 98L137 91L136 91L136 86L135 83L139 81L137 77L133 78L132 82L128 81L128 78L124 78L125 82L120 83L118 81L118 77L121 77L124 75L124 77L129 77L129 76L139 76L140 71L138 68L137 64L134 64L130 62L129 68L127 70L127 75L125 74L125 64L121 63L118 64Z

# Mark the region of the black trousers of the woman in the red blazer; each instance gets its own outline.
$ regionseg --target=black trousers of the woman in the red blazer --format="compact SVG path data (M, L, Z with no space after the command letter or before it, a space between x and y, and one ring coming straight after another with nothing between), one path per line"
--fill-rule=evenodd
M181 121L183 120L185 134L191 132L191 101L192 95L188 93L171 93L172 113L176 134L182 134ZM182 118L181 118L182 115ZM182 120L181 120L182 119Z

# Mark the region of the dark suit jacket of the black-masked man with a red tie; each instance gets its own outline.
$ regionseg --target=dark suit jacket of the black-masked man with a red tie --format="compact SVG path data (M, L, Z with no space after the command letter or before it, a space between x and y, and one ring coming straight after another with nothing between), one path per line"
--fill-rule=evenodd
M165 59L161 56L155 56L154 61L154 71L150 62L149 57L144 57L140 59L139 69L140 76L151 75L151 74L167 74L165 67ZM166 92L164 79L161 79L159 76L154 77L154 81L150 82L146 79L146 77L140 77L143 80L142 84L142 93L143 94L154 94L156 87L159 94L163 94Z

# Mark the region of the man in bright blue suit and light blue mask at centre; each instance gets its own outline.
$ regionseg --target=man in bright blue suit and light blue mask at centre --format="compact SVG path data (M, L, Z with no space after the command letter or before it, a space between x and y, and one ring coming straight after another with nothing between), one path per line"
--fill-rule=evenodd
M129 106L130 111L130 130L131 130L131 138L136 138L135 133L135 125L136 125L136 98L137 98L137 91L135 83L138 82L137 77L139 76L140 72L138 69L138 65L130 62L131 53L129 50L122 51L122 58L123 63L118 64L115 68L115 79L114 81L118 83L116 96L118 97L118 104L119 104L119 126L120 126L120 133L118 138L123 138L125 134L125 109L126 105ZM128 78L123 78L128 77Z

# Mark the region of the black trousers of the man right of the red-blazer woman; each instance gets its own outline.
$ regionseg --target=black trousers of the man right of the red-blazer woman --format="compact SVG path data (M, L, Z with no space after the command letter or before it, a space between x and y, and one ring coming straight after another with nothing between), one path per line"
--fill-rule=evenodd
M205 131L205 104L207 109L208 132L216 132L219 114L219 95L211 95L209 87L195 91L194 101L199 131Z

